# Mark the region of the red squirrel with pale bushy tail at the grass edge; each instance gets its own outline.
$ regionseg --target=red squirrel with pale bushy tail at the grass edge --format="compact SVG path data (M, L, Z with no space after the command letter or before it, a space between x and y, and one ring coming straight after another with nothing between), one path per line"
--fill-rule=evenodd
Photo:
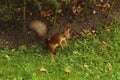
M53 56L56 55L55 49L60 46L62 50L64 50L62 42L65 42L67 45L67 39L71 38L70 29L64 29L61 32L55 33L53 36L51 36L51 38L48 38L48 27L40 20L33 20L30 23L30 28L46 41L49 51Z

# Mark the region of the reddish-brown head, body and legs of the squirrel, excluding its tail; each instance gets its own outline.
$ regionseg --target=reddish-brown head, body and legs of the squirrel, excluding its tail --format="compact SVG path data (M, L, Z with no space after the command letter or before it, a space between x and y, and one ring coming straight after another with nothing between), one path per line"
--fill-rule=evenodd
M62 50L64 50L64 47L62 45L62 42L65 42L67 45L67 39L70 38L70 29L64 29L61 33L56 33L53 35L50 40L48 41L49 50L55 55L55 49L60 46Z

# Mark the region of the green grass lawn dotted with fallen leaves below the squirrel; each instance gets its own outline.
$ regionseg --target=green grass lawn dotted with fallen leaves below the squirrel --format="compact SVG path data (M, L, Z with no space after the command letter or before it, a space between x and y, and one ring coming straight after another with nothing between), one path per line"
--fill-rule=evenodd
M69 41L64 51L57 49L56 59L38 45L0 50L0 80L120 80L118 27L120 20L114 19L111 26L101 25L97 35ZM102 41L108 45L101 46Z

